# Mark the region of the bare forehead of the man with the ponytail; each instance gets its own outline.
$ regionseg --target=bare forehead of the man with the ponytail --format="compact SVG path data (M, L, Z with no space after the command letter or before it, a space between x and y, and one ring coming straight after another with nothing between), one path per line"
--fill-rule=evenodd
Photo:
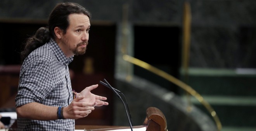
M87 15L73 13L69 15L69 26L77 27L77 26L90 26L90 19Z

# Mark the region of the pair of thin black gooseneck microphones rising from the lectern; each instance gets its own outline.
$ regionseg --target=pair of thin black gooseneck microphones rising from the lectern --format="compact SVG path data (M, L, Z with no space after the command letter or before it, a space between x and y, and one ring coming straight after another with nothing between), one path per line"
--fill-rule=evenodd
M125 106L125 102L126 102L126 98L125 98L125 102L123 101L123 99L121 98L121 96L119 94L122 94L124 97L125 95L121 92L121 91L118 91L118 89L115 89L113 88L112 86L110 86L110 84L107 82L106 79L104 79L104 81L107 83L104 83L102 81L100 81L100 84L106 86L106 87L109 87L115 94L116 96L123 102L124 106ZM127 115L127 118L128 118L128 121L129 121L129 124L130 124L130 128L131 128L131 131L133 131L132 129L132 121L131 121L131 114L130 114L130 111L129 111L129 108L128 108L128 104L126 102L126 106L125 106L125 112L126 112L126 115ZM129 112L129 113L128 113Z

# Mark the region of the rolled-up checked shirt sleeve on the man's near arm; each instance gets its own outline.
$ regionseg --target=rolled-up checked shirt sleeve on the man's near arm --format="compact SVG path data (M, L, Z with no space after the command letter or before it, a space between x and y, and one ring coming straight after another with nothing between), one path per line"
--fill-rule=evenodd
M39 59L22 69L16 107L42 101L52 91L51 69L48 61Z

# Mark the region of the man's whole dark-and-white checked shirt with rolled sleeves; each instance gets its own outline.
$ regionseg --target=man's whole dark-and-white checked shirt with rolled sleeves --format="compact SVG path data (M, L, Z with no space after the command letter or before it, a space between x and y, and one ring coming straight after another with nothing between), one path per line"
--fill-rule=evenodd
M73 101L67 58L57 43L50 41L24 60L19 79L16 107L38 102L47 106L68 106ZM17 117L19 131L74 131L74 119L37 121Z

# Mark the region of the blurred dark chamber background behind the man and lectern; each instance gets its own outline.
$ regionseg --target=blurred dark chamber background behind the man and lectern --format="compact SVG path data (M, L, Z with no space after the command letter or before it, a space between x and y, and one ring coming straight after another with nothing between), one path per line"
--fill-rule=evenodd
M47 26L59 2L0 1L1 112L15 111L22 45ZM256 130L255 0L65 2L92 13L86 54L69 65L76 91L106 79L125 94L133 125L154 106L170 131ZM129 126L109 88L99 84L94 93L108 97L109 106L76 124Z

